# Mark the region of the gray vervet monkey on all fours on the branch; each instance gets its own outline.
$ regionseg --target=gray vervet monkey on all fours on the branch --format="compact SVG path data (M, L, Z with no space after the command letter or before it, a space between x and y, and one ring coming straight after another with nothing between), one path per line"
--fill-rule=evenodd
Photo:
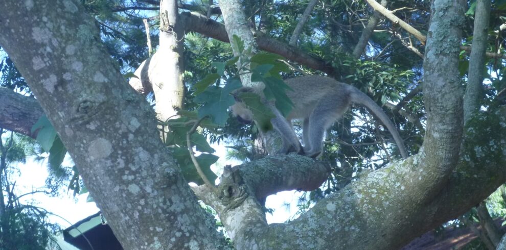
M271 123L282 137L283 146L280 153L296 152L315 158L323 149L325 131L350 107L351 103L361 104L378 117L394 137L403 158L407 158L406 147L394 123L383 110L366 94L357 88L340 83L334 79L321 76L307 76L285 81L293 91L286 91L294 104L286 119L272 104L267 104L276 117ZM252 91L248 88L236 92ZM243 121L252 121L253 114L238 98L231 106L232 113ZM304 148L293 130L291 120L303 120L302 137Z

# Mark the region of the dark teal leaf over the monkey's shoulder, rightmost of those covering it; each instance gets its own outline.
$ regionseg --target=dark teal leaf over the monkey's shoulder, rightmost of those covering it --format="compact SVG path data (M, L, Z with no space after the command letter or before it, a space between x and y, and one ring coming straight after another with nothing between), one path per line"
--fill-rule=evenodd
M287 116L293 108L293 103L286 95L286 91L293 91L283 80L274 77L266 77L263 79L265 83L264 94L267 100L275 99L276 108Z

